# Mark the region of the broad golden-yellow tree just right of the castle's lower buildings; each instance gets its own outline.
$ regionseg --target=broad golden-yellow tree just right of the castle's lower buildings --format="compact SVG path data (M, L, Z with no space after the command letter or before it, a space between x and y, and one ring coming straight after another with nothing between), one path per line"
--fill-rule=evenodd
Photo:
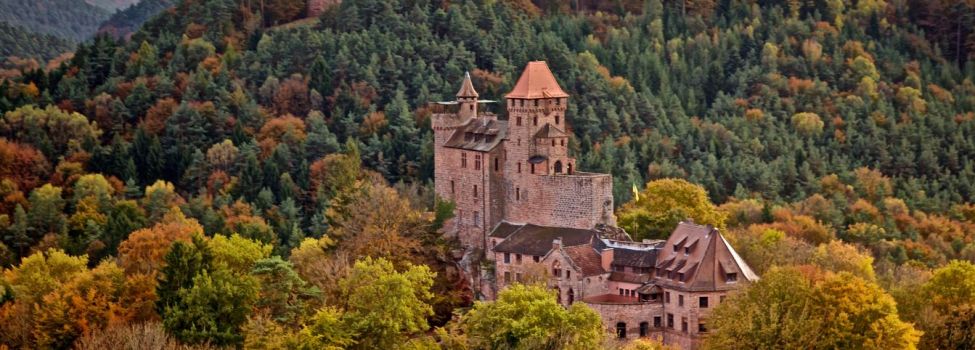
M772 268L712 312L711 349L914 349L893 298L847 272Z

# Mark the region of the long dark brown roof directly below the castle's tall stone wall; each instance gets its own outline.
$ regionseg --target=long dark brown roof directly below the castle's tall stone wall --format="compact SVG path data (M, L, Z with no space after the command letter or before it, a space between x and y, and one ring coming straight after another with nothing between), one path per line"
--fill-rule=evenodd
M491 236L495 237L495 234L492 232ZM590 244L593 239L599 239L599 236L593 230L525 224L508 235L503 242L498 243L494 251L544 256L552 250L552 241L559 238L562 239L562 246L571 247Z

